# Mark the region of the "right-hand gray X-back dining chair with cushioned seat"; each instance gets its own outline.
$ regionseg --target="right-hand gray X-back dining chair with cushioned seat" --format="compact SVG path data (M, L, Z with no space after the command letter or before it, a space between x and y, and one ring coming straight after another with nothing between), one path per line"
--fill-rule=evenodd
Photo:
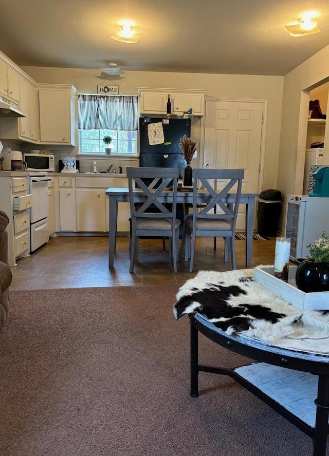
M239 211L244 169L193 169L193 203L192 214L184 219L185 261L190 258L190 272L193 271L195 240L197 236L214 236L225 239L224 261L228 261L231 252L231 266L236 269L235 260L235 226ZM215 186L218 180L227 183L221 191ZM233 187L236 185L236 189ZM210 199L206 205L199 207L197 189L204 188ZM226 204L223 197L234 192L234 201Z

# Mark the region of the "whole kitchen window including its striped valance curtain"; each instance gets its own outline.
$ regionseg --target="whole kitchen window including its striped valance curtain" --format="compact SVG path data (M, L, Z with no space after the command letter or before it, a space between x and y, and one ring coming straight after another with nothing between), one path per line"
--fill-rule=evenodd
M80 154L105 155L104 136L111 136L111 155L137 155L138 97L78 95Z

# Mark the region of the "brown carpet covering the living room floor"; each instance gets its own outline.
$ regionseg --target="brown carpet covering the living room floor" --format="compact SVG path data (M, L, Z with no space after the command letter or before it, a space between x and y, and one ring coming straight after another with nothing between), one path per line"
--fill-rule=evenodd
M178 286L12 291L0 333L4 456L306 456L312 439L230 378L189 396ZM246 358L200 336L200 360ZM217 363L218 362L218 363Z

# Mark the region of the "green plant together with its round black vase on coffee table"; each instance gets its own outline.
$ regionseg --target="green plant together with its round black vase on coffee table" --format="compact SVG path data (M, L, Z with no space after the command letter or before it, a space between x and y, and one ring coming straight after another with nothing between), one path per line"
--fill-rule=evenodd
M297 267L297 288L305 293L329 291L329 236L323 232L321 238L306 248L309 257Z

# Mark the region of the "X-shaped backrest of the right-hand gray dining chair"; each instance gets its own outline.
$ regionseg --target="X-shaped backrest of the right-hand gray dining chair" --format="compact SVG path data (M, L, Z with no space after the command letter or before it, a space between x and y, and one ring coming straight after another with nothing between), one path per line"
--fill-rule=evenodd
M244 169L209 169L209 168L193 168L193 224L197 218L207 219L224 219L231 223L231 229L235 229L237 212L239 211L242 180L244 178ZM228 181L224 188L219 191L217 189L217 181ZM212 183L210 182L212 181ZM237 184L234 189L235 199L232 210L223 201L223 197L230 191L233 193L233 186ZM197 205L197 189L202 188L209 192L210 200L207 204L202 206L199 210ZM219 209L219 211L218 211Z

